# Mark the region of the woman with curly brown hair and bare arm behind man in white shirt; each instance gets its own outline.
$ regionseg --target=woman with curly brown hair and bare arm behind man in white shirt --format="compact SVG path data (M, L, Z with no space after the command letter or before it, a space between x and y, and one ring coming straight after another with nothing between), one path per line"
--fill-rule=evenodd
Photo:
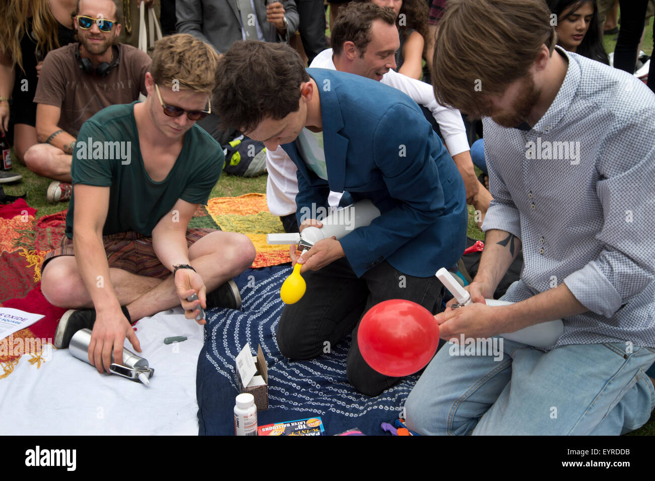
M421 80L425 39L428 38L428 5L425 0L358 0L372 1L396 12L400 48L396 52L396 71Z

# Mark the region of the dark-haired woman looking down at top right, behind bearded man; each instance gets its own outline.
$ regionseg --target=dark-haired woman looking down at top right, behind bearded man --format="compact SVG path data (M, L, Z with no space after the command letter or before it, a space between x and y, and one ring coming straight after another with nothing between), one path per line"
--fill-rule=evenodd
M547 0L557 15L557 45L609 65L595 0Z

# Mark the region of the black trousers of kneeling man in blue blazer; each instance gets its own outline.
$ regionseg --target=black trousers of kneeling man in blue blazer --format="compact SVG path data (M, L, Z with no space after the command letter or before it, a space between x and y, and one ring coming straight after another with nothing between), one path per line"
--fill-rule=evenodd
M280 352L290 359L330 355L333 346L352 332L346 374L355 389L369 396L379 395L399 378L384 376L364 361L357 344L357 327L364 314L388 299L411 300L432 313L441 309L443 285L439 279L407 276L386 261L360 278L345 258L303 277L307 282L305 295L285 306L280 317Z

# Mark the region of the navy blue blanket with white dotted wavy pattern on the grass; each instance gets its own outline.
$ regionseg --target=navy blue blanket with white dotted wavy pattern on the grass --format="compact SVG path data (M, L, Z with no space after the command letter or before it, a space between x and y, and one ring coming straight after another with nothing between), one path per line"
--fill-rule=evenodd
M238 394L234 360L246 342L257 344L269 366L269 409L257 413L259 425L320 416L326 435L358 427L365 435L383 435L381 423L400 416L418 376L409 376L378 397L355 391L346 379L350 338L331 353L311 361L280 355L275 332L284 304L280 286L289 266L250 269L235 279L242 310L207 313L205 343L198 358L196 395L200 435L234 435L233 407Z

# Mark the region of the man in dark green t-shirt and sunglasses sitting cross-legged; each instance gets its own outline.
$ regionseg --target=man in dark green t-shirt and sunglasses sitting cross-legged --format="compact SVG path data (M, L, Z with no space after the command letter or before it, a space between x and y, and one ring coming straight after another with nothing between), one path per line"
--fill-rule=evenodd
M231 278L252 264L252 242L187 229L225 162L195 125L211 111L217 61L192 35L164 37L145 76L147 99L103 109L77 137L66 235L44 260L41 290L52 304L74 308L57 327L55 347L92 327L88 357L99 372L109 370L112 353L121 362L125 338L141 351L132 321L179 304L189 319L199 307L240 307ZM193 294L198 300L189 302Z

